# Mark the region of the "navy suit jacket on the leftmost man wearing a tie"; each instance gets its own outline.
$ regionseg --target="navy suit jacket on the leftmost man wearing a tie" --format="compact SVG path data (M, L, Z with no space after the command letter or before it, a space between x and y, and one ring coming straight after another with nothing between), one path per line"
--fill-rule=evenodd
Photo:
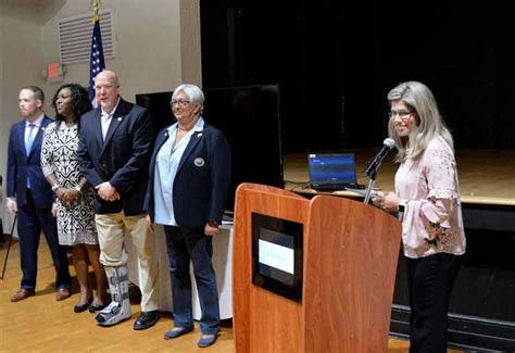
M45 116L34 139L30 153L25 151L25 124L23 119L11 127L8 149L8 198L16 197L18 206L27 202L27 177L36 207L50 207L54 196L41 171L41 142L45 128L53 121Z

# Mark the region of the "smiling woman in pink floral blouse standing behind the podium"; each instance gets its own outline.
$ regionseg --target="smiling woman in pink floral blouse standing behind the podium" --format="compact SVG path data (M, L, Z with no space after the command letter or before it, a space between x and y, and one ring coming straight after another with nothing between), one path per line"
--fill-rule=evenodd
M452 136L425 85L403 83L388 101L389 136L400 166L395 192L374 202L399 212L402 222L410 352L445 352L449 298L466 243Z

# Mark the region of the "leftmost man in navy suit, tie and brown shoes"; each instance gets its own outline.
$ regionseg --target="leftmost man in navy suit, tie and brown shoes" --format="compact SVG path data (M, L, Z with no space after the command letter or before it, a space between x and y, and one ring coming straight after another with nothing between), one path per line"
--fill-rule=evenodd
M45 128L52 123L42 112L45 94L38 87L22 88L18 96L23 121L14 124L9 137L8 202L17 213L17 231L22 257L22 285L12 302L35 294L38 272L38 247L41 229L47 238L56 272L56 300L71 295L71 278L66 248L58 240L55 217L52 215L54 194L41 171L41 141Z

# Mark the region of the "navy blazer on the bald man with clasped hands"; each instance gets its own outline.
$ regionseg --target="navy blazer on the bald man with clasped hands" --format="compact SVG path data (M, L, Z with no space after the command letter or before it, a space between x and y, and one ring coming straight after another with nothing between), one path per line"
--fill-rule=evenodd
M88 182L96 187L111 182L121 196L104 201L96 194L97 214L142 214L148 185L148 167L152 152L152 125L149 111L120 100L111 124L102 139L101 110L93 109L80 117L77 156Z

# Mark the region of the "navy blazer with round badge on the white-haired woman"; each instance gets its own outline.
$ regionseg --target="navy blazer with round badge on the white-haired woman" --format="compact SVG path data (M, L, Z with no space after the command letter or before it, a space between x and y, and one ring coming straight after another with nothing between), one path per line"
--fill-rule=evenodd
M159 150L168 139L168 128L156 140L149 171L145 207L154 219L154 169ZM197 161L197 163L196 163ZM203 227L209 220L222 223L230 181L231 153L225 136L204 124L194 131L179 161L174 179L175 220L184 227Z

